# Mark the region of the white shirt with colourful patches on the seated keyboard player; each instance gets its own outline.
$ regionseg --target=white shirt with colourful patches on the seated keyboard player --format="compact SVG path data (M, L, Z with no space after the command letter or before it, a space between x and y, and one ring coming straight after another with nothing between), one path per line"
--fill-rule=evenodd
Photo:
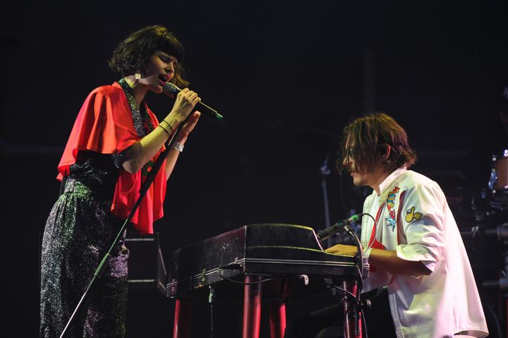
M421 261L428 276L389 274L371 267L363 291L388 286L398 338L487 337L480 296L455 219L435 181L400 168L365 199L363 248L397 251Z

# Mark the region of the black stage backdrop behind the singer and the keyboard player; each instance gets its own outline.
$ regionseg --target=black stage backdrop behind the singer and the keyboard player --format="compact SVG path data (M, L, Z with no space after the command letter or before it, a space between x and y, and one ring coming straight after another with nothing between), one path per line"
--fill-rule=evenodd
M141 5L143 4L143 5ZM162 24L186 47L191 88L218 109L202 117L169 180L155 225L171 251L244 224L325 227L320 167L333 169L337 139L366 111L394 116L409 133L413 167L441 184L454 209L485 303L491 337L506 327L495 281L507 221L491 210L492 155L508 148L497 114L508 85L506 1L78 1L11 3L0 32L2 332L35 337L40 234L57 198L56 165L83 100L118 80L115 44ZM171 100L148 95L159 117ZM332 222L360 210L365 190L325 177ZM476 210L475 210L476 208ZM494 215L495 217L493 217ZM288 305L288 321L337 301L327 292ZM174 300L157 289L129 298L128 337L171 337ZM241 304L217 301L215 337L240 337ZM262 337L267 337L266 310ZM210 336L195 305L193 337ZM17 322L15 322L17 320ZM16 323L21 324L16 324ZM499 334L499 335L498 335Z

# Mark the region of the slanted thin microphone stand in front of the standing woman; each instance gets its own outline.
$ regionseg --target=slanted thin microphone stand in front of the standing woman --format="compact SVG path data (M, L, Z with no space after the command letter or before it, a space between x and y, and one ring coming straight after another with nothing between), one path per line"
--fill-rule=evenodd
M136 203L135 203L133 209L131 210L131 213L128 215L126 221L123 222L123 225L120 228L120 231L116 235L116 239L114 239L113 243L111 244L111 247L107 251L106 255L104 255L104 258L102 258L101 262L99 263L99 266L97 267L97 270L95 270L95 272L93 274L93 277L92 277L92 280L90 281L90 284L88 284L87 289L85 290L85 293L83 294L83 296L81 296L80 301L78 302L78 305L75 307L74 312L71 315L71 318L69 318L66 327L63 328L63 332L60 334L60 338L65 337L65 334L66 334L66 331L67 331L68 327L71 325L71 322L73 321L76 313L78 313L78 310L79 310L81 304L83 303L83 301L87 297L89 291L92 289L92 286L93 286L95 280L97 279L97 277L100 277L102 272L104 271L104 267L106 266L106 263L109 260L109 256L111 255L111 251L113 251L114 247L116 246L116 243L118 243L118 241L120 240L120 238L121 238L121 236L123 234L123 231L125 231L125 229L127 227L128 222L131 222L131 219L134 216L134 213L136 212L136 210L138 210L138 207L139 207L139 205L141 203L141 200L143 200L143 197L145 197L145 195L146 195L146 193L148 191L148 188L150 188L150 186L152 185L152 182L155 179L155 176L157 175L157 172L159 172L160 167L162 167L162 163L164 163L164 159L166 159L169 150L171 150L171 145L173 145L173 143L174 143L175 136L180 133L181 127L182 127L183 123L184 122L180 123L178 128L176 128L176 131L173 133L173 135L165 143L166 149L163 152L161 152L159 157L157 157L157 159L155 160L155 163L154 163L154 165L152 167L152 170L150 170L150 172L147 174L146 179L145 179L145 181L143 182L143 184L142 184L142 186L140 188L140 195L139 195L138 200L136 200Z

